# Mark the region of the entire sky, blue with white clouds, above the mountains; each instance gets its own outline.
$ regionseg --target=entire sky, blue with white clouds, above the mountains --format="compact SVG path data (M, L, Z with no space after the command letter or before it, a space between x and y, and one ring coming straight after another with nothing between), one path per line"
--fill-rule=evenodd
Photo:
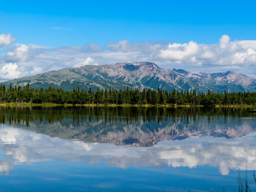
M253 0L2 0L0 79L140 61L256 78L255 8Z

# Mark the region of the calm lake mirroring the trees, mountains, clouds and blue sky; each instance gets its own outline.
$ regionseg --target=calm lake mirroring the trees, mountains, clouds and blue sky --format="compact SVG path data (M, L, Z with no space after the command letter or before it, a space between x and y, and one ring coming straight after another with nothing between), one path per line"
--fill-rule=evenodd
M236 108L0 107L0 191L255 190L256 116Z

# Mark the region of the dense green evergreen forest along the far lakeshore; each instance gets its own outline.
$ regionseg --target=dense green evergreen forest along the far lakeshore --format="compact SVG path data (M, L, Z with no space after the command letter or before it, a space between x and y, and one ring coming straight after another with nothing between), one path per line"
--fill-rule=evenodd
M54 104L177 104L177 105L254 105L256 104L256 92L225 92L215 93L208 90L207 93L196 90L158 90L129 89L116 90L105 89L93 92L91 89L80 90L74 87L73 91L64 91L61 88L35 89L26 86L12 86L6 88L0 86L1 103L54 103Z

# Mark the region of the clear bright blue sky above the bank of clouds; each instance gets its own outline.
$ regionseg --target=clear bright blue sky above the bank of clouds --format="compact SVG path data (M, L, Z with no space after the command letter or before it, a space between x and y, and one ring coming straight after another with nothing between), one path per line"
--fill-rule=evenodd
M0 31L54 47L124 39L216 43L223 34L255 39L255 8L253 0L12 0L1 2Z

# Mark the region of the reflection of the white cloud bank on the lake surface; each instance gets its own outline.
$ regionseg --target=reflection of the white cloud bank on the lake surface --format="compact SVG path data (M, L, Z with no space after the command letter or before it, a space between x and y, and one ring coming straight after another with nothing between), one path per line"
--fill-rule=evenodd
M107 166L196 166L218 167L226 175L230 169L256 170L256 134L234 139L188 138L162 141L150 148L115 146L63 140L17 128L0 129L0 172L7 173L17 164L48 160L86 162Z

